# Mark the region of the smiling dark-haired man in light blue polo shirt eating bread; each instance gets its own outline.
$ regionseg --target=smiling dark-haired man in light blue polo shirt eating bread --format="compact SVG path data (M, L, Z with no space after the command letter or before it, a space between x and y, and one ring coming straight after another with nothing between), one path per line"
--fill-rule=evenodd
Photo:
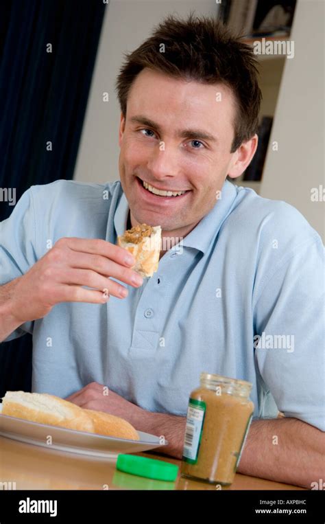
M33 391L163 435L179 458L200 372L250 380L239 472L310 488L324 477L324 248L296 209L226 180L256 151L252 50L212 19L169 16L117 92L121 183L33 186L0 225L0 340L33 333ZM115 245L139 223L163 229L144 282Z

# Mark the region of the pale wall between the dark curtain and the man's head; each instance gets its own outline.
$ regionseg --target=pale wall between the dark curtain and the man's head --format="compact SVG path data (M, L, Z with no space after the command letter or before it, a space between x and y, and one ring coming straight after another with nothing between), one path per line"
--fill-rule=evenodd
M103 183L119 179L120 109L114 90L115 79L130 52L152 33L167 14L186 17L215 15L215 0L110 0L99 41L91 92L86 109L74 179ZM103 102L103 93L109 102Z

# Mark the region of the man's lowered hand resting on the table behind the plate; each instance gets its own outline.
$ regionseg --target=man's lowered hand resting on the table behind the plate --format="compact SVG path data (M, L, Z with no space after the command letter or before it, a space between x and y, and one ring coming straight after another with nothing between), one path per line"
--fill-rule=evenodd
M144 420L147 420L148 414L154 415L154 413L145 411L145 409L132 404L132 402L125 400L125 398L109 389L109 387L97 382L87 384L80 391L76 391L64 400L69 400L69 402L73 402L73 404L84 409L104 411L105 413L110 413L110 415L124 418L139 431L145 431L142 429L141 422L143 423Z

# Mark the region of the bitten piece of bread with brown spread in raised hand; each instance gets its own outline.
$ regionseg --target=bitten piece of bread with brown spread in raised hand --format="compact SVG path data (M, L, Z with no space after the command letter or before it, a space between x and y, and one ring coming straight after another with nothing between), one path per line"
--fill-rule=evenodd
M161 249L161 227L141 224L127 229L117 237L120 247L128 249L136 259L132 269L141 277L152 277L158 271Z

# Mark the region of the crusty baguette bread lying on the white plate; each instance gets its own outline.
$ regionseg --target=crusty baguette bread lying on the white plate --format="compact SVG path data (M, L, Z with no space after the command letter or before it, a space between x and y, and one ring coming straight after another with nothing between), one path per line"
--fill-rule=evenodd
M54 395L7 391L2 400L3 415L77 431L139 440L134 427L123 418L83 409Z

